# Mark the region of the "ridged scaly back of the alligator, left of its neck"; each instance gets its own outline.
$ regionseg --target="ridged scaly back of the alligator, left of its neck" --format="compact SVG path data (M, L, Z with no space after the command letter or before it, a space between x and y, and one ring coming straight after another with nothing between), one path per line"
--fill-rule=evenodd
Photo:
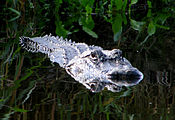
M68 41L64 41L62 37L46 35L44 37L29 38L22 36L20 37L20 44L22 48L29 52L47 54L52 62L57 62L63 68L76 54L71 49L71 43L69 44Z

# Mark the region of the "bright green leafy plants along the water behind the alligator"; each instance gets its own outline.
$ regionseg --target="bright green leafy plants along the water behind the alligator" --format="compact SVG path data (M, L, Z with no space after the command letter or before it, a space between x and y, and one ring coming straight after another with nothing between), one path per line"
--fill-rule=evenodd
M160 4L161 6L158 6ZM160 3L150 0L144 2L138 0L131 0L130 2L127 0L102 0L98 2L95 0L55 0L52 2L47 0L40 0L39 2L8 0L3 7L4 14L2 16L4 21L8 23L4 26L7 28L7 35L10 34L9 32L14 32L8 29L20 29L18 27L20 21L22 25L27 25L30 29L23 30L23 35L44 34L43 30L47 32L48 25L55 23L54 28L50 28L52 34L67 37L74 32L83 30L90 36L98 38L94 31L93 18L101 17L112 25L114 41L121 39L122 30L128 24L139 32L147 30L147 36L141 45L147 41L149 36L156 33L156 28L168 30L167 19L175 17L173 0L162 0ZM153 7L158 9L155 10ZM143 11L144 14L138 15L137 11ZM37 33L35 33L36 31Z

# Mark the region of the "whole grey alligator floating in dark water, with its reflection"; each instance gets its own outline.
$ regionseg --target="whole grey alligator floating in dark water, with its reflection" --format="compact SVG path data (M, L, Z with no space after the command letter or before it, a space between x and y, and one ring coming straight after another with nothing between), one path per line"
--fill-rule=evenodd
M99 46L75 43L63 37L20 37L21 46L30 52L47 54L76 81L92 92L104 89L121 91L143 79L143 74L122 56L119 49L104 50Z

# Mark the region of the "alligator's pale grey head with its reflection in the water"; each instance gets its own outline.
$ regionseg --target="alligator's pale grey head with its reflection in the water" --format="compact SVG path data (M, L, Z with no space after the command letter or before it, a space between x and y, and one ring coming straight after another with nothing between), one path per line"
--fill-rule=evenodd
M67 64L66 71L92 92L104 88L118 92L122 86L136 85L143 79L119 49L85 51Z

